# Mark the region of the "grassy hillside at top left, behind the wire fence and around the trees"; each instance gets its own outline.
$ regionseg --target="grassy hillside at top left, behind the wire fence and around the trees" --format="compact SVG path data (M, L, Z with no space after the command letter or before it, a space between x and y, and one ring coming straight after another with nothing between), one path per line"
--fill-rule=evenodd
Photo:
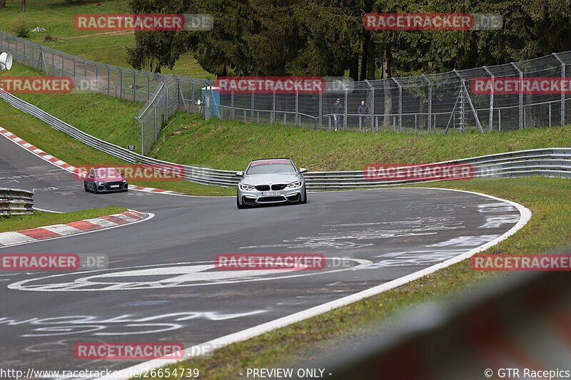
M76 14L128 14L126 0L81 1L72 6L64 0L34 0L26 7L26 14L19 14L21 1L6 1L6 9L0 9L1 29L14 34L16 21L24 21L28 29L41 26L46 31L30 32L27 39L59 51L91 59L109 65L131 67L126 60L126 47L135 46L133 32L79 31L74 27ZM46 36L51 38L46 41ZM186 53L172 70L164 74L213 79L215 76L198 65L193 53Z

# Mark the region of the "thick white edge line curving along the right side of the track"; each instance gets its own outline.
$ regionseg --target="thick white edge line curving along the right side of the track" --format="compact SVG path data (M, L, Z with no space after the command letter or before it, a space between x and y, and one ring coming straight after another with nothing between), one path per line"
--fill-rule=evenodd
M332 309L336 309L338 307L343 307L343 306L346 306L348 304L352 304L353 302L360 301L361 299L364 299L367 297L372 297L372 296L377 295L377 294L382 293L382 292L386 292L387 290L393 289L395 287L399 287L400 285L406 284L407 282L413 281L415 279L419 279L420 277L423 277L427 274L431 274L433 272L436 272L438 269L443 269L445 267L449 267L450 265L453 265L453 264L456 264L457 262L468 259L468 257L471 257L478 252L482 252L483 250L487 250L487 248L490 248L490 247L496 245L497 243L501 242L502 240L507 239L507 237L510 237L511 235L515 234L515 232L517 232L524 225L526 225L532 216L531 210L528 209L527 207L523 206L523 205L520 205L519 203L512 202L511 200L505 200L505 199L502 199L499 197L494 197L493 195L483 194L481 192L468 191L468 190L456 190L456 189L443 189L443 188L418 188L418 189L433 189L433 190L448 190L448 191L468 192L470 194L480 195L482 197L488 197L488 198L491 198L493 200L499 200L501 202L506 202L506 203L517 208L517 210L520 212L520 220L512 228L510 228L510 230L507 230L507 232L504 232L502 235L500 235L499 237L496 237L494 240L490 240L489 242L482 244L479 247L475 247L472 250L469 250L468 252L464 252L463 254L460 254L456 257L453 257L451 259L440 262L440 263L433 265L431 267L422 269L418 272L407 274L404 277L400 277L398 279L393 279L392 281L385 282L384 284L377 285L376 287L372 287L372 288L363 290L361 292L351 294L347 297L336 299L335 301L326 302L325 304L320 304L318 306L311 307L310 309L305 309L301 312L296 312L294 314L290 314L290 315L285 316L285 317L274 319L273 321L266 322L263 324L259 324L258 326L250 327L250 328L244 329L240 332L228 334L224 337L212 339L208 342L204 342L202 344L197 344L196 346L188 347L187 349L184 350L185 359L183 359L183 360L190 359L191 357L196 356L195 353L201 352L201 348L203 348L203 347L205 347L207 349L210 347L213 347L213 346L216 346L216 348L221 348L223 346L227 346L228 344L241 342L241 341L246 340L246 339L257 337L258 335L264 334L266 332L270 332L272 330L288 326L289 324L294 324L296 322L303 321L304 319L308 319L311 317L315 317L319 314L329 312ZM371 189L371 190L373 190L373 189ZM139 371L139 372L145 371L145 370L150 371L151 369L155 369L155 368L158 368L161 366L166 366L168 364L175 364L175 363L178 363L179 361L181 361L181 360L180 359L153 359L150 361L145 361L141 364L137 364L135 366L130 366L126 369L121 369L121 370L119 370L118 376L104 376L104 377L99 377L96 380L126 380L126 379L131 378L130 375L132 375L134 371Z

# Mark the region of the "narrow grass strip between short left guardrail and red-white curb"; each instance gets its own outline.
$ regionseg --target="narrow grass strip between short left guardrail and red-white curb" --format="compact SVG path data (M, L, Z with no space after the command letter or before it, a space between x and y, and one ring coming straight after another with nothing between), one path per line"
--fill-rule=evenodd
M105 207L92 208L74 212L64 212L56 214L54 212L34 211L33 215L9 215L0 216L0 232L27 230L29 228L42 227L46 225L59 225L78 220L91 219L92 217L102 217L106 215L125 212L126 207Z

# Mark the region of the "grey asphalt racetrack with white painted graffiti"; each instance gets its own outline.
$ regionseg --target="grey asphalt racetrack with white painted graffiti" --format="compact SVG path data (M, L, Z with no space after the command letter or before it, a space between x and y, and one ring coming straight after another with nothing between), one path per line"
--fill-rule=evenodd
M109 205L151 220L0 253L105 254L108 269L0 272L0 366L123 369L140 361L78 360L78 342L182 342L254 327L435 265L495 239L516 207L450 190L310 192L306 205L237 210L234 197L129 191L95 195L83 183L0 138L0 187L35 191L35 207ZM221 253L320 253L315 271L221 271ZM343 265L333 265L335 257Z

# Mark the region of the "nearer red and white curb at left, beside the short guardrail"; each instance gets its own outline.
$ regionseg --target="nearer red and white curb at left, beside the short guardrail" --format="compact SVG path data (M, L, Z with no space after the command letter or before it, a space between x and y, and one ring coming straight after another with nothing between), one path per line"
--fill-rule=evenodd
M120 227L131 223L142 222L154 217L152 213L128 210L121 214L94 217L92 219L79 220L66 223L65 225L49 225L45 227L30 228L29 230L0 232L0 247L9 245L21 245L39 240L55 239L69 235L84 234L108 228Z

